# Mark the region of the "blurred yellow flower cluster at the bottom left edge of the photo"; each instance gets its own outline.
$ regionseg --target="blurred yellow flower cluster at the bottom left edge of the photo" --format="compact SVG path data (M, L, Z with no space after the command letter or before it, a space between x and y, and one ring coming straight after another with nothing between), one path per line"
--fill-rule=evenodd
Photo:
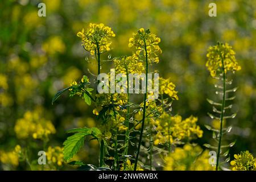
M3 164L11 164L16 167L19 165L19 154L21 152L21 147L17 145L13 151L5 152L0 151L0 162Z

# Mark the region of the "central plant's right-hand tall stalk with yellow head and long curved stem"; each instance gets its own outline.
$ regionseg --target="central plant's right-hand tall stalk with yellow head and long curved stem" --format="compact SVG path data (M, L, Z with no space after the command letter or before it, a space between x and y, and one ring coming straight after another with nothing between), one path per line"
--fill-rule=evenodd
M141 149L142 136L144 123L146 118L146 100L147 100L147 73L148 73L148 64L158 63L159 57L158 55L162 53L162 50L158 46L160 43L160 38L156 37L155 34L152 34L149 29L144 30L144 28L140 28L137 33L133 34L133 38L129 39L129 47L135 48L135 56L138 59L143 59L145 62L145 70L146 70L146 92L144 93L143 100L143 115L141 121L141 133L139 135L139 143L137 149L137 155L134 163L134 171L137 169L138 159L139 159L139 151Z

